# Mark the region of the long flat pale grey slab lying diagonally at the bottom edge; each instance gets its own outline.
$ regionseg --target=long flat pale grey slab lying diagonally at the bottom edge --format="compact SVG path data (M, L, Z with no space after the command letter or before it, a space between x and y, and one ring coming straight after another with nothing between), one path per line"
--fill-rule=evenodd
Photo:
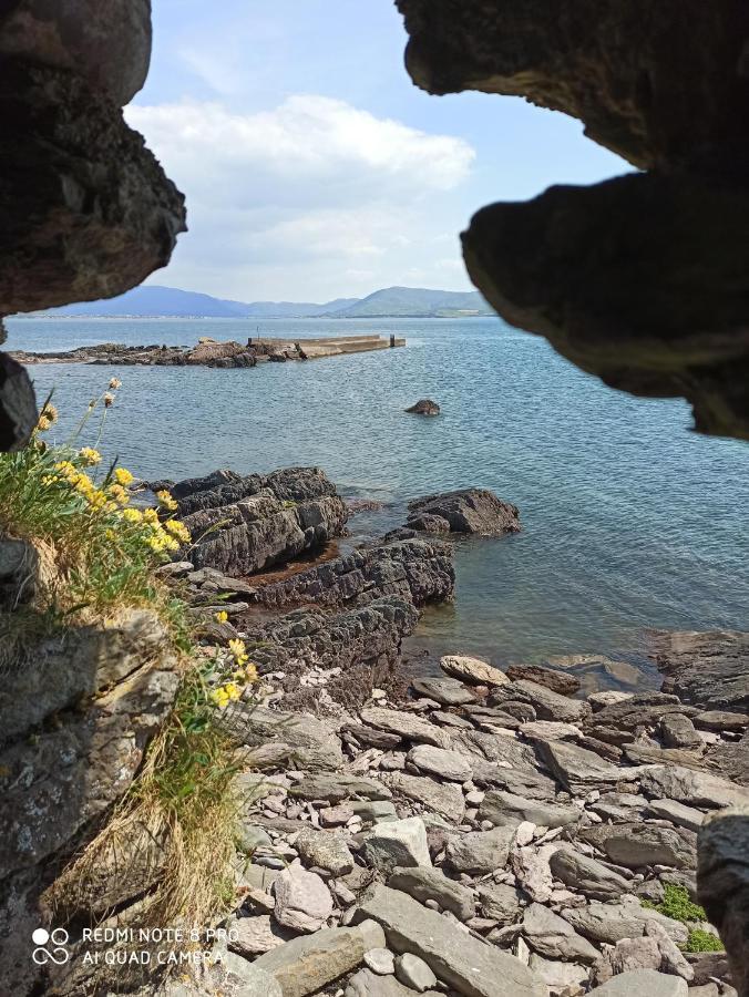
M465 997L496 997L497 981L502 997L547 997L546 985L520 959L472 935L459 935L448 918L400 891L376 886L355 918L377 921L390 948L418 955L438 979Z

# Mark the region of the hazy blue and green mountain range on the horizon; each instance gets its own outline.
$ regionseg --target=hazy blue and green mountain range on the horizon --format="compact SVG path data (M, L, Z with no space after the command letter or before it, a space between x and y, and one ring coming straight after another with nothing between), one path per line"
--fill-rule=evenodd
M336 298L322 305L294 301L230 301L145 285L103 301L84 301L35 312L49 317L104 318L451 318L493 315L479 291L388 287L366 298Z

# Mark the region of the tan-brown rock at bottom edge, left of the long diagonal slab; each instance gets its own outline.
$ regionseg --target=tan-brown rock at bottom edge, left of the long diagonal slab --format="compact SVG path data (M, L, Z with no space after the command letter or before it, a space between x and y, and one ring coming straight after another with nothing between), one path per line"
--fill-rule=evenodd
M326 928L287 942L260 956L253 967L269 973L284 997L307 997L361 965L367 948L373 947L368 935L357 927Z

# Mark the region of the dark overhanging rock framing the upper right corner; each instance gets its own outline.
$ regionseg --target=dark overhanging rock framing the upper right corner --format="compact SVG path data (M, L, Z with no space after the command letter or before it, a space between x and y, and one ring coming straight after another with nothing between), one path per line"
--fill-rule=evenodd
M742 4L398 7L419 86L527 96L653 171L480 212L464 254L484 296L606 383L684 395L698 430L749 438Z

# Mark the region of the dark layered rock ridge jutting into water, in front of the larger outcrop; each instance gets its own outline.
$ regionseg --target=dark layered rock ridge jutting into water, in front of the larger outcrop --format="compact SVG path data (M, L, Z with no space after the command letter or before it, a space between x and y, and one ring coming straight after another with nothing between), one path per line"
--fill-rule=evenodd
M359 548L266 585L258 589L257 599L278 609L304 603L362 606L389 595L423 606L452 598L454 584L451 552L444 544L406 539Z

